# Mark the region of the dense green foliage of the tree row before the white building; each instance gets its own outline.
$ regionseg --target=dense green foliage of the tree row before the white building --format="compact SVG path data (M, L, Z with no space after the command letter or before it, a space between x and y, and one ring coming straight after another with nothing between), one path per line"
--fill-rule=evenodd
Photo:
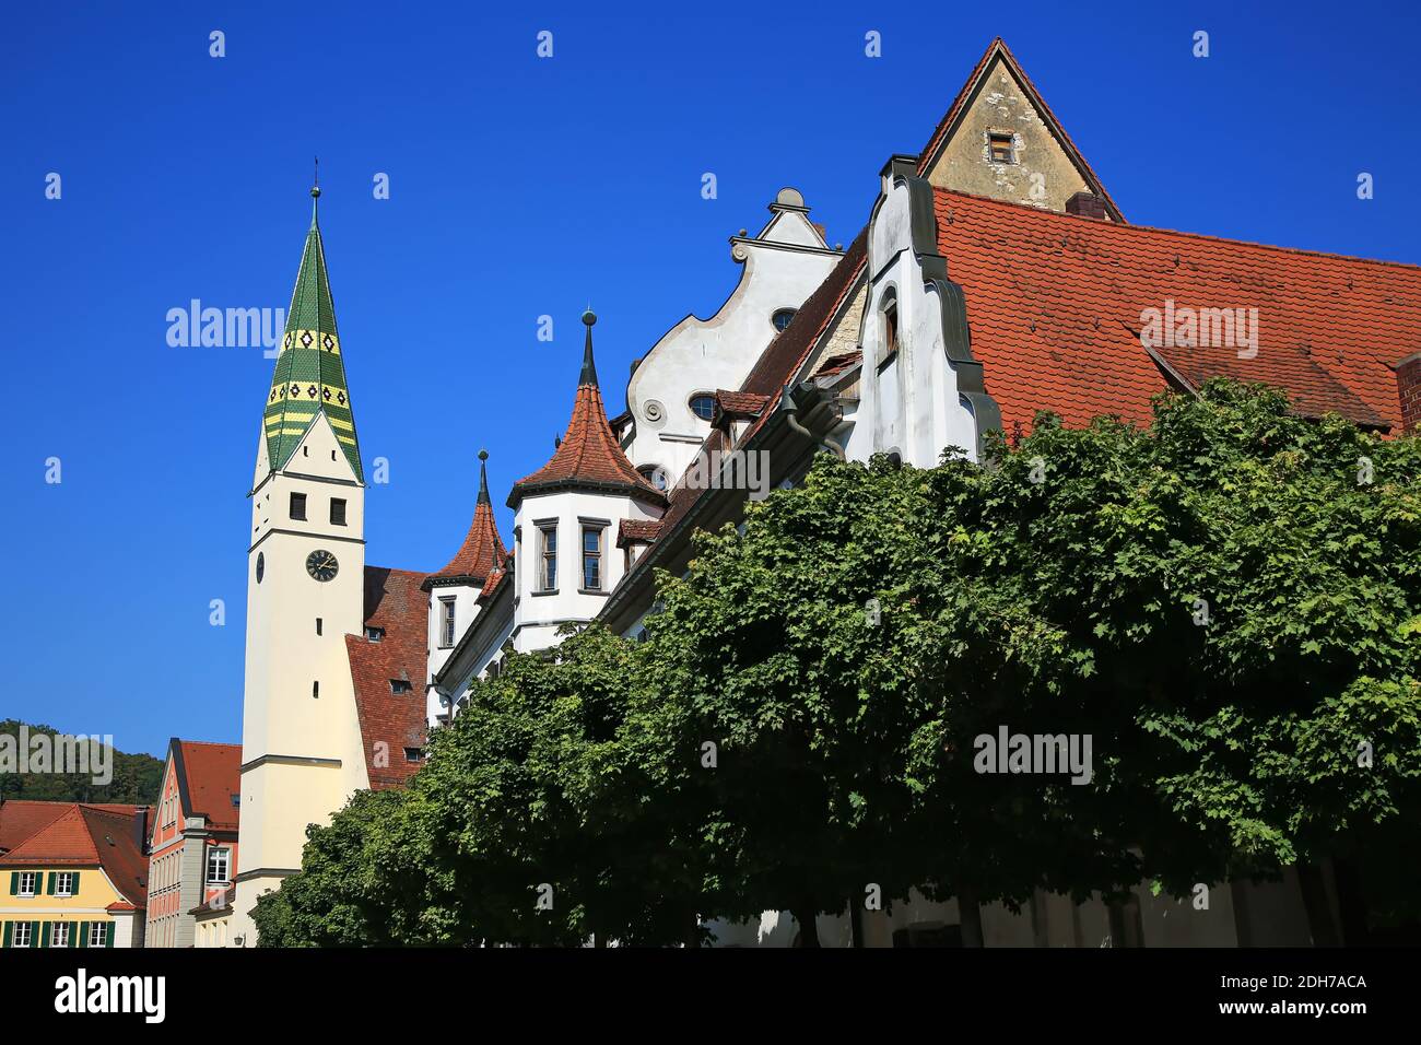
M1407 913L1421 439L1226 382L1148 429L1040 415L986 466L820 459L659 587L648 641L512 655L406 792L313 829L274 938L675 943L868 883L1184 896L1324 856ZM1088 736L1088 783L979 772L1003 727Z

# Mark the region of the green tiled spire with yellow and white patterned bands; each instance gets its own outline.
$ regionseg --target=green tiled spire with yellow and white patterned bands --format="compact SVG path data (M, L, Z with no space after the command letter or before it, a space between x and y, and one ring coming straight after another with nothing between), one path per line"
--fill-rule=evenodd
M313 199L320 196L318 188L311 189ZM306 235L306 252L296 274L296 290L291 291L291 307L266 404L267 458L273 471L286 466L315 415L323 411L345 459L355 469L355 478L364 482L341 340L335 331L331 282L325 274L325 249L315 223L315 203L311 203L311 230Z

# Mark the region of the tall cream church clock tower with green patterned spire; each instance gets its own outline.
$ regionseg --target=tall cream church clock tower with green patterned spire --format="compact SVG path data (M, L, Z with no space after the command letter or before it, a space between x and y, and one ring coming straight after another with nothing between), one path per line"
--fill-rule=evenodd
M345 653L345 636L361 634L364 623L365 481L315 203L249 496L232 933L246 947L256 944L257 897L300 869L307 825L324 823L369 786Z

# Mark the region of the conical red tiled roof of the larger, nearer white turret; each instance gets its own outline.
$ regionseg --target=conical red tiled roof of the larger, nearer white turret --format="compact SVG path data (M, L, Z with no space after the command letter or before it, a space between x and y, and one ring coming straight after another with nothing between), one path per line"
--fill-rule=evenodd
M597 368L593 364L595 321L597 317L591 313L583 317L583 323L587 324L587 344L583 350L583 374L573 401L573 417L567 422L567 435L557 445L551 461L513 483L509 508L516 508L527 493L556 486L617 488L641 500L665 503L662 493L632 468L607 424L607 408L603 405L603 392L597 387Z

